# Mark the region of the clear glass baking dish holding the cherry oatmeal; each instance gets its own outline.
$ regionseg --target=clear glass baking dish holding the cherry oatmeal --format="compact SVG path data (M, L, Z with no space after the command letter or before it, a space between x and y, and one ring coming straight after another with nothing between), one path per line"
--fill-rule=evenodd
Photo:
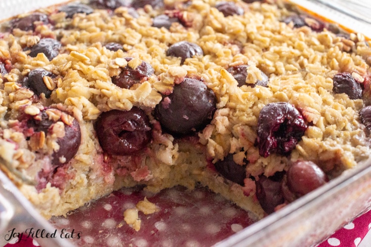
M2 18L36 10L65 0L2 0L0 8L7 9ZM326 21L339 23L343 28L371 37L371 8L366 0L291 0L303 11ZM44 228L52 232L46 222L22 197L15 186L0 174L0 232L18 224ZM345 171L314 192L296 200L281 210L242 229L216 246L316 246L342 225L371 208L371 162ZM20 215L22 217L20 217ZM6 242L0 238L0 244ZM59 238L41 239L43 246L72 246Z

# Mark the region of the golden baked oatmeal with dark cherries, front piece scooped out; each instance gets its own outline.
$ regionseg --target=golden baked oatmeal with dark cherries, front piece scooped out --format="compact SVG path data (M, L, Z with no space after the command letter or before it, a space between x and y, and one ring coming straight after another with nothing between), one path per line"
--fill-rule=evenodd
M367 160L371 48L281 0L72 1L3 22L0 167L46 218L200 184L264 215Z

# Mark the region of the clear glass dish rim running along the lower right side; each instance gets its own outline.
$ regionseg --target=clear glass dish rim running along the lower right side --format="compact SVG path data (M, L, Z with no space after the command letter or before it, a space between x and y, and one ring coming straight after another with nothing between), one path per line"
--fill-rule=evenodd
M368 184L364 183L365 181L370 181ZM303 241L305 242L305 246L316 246L320 244L322 241L325 240L330 234L336 231L339 227L343 224L346 224L353 220L355 217L359 216L360 214L368 211L371 209L371 191L369 193L369 200L364 201L363 206L357 208L355 210L349 210L345 213L345 218L336 218L334 216L334 212L336 210L331 210L331 207L325 206L328 204L337 203L341 196L348 197L354 196L354 194L360 193L360 190L357 189L359 187L366 186L367 188L371 189L371 162L368 161L363 165L359 165L354 169L348 170L346 174L343 174L340 177L337 177L331 180L329 183L323 185L321 188L307 194L305 197L302 197L295 202L285 206L284 208L280 209L279 211L268 215L267 217L257 221L256 223L244 228L240 232L232 235L231 237L219 242L216 247L239 247L239 246L286 246L284 245L277 245L282 238L281 235L290 233L286 231L284 227L287 224L296 224L304 219L310 223L315 217L315 213L319 211L323 211L323 214L328 213L328 217L332 217L334 220L337 220L339 223L335 224L335 227L330 227L323 231L322 234L317 236L312 236L311 240L303 240L305 236L292 236L287 237L291 239L290 242L287 242L287 246L294 247L294 246L304 246ZM362 190L362 189L361 189ZM346 195L349 193L349 195ZM325 206L321 209L321 206ZM339 208L341 210L342 208ZM313 215L312 218L305 217L308 215ZM294 226L292 226L294 227ZM316 227L316 226L313 226ZM303 232L306 234L313 234L311 229L307 232ZM270 236L269 241L267 241L267 236ZM304 234L305 235L305 234ZM293 240L298 240L299 243L293 243ZM276 244L276 245L273 245Z

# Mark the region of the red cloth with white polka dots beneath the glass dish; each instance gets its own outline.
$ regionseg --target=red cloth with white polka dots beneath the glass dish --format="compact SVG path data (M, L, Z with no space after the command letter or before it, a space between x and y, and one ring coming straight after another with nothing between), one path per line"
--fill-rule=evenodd
M161 210L147 215L139 211L141 227L137 232L126 224L123 212L144 197ZM177 187L156 195L133 189L114 192L67 218L53 218L51 223L58 235L74 232L71 241L77 246L201 247L212 246L252 222L244 210L205 188L189 193ZM319 247L357 247L370 227L371 211L339 229ZM76 238L78 233L80 237ZM40 246L37 240L21 240L11 239L5 247Z

